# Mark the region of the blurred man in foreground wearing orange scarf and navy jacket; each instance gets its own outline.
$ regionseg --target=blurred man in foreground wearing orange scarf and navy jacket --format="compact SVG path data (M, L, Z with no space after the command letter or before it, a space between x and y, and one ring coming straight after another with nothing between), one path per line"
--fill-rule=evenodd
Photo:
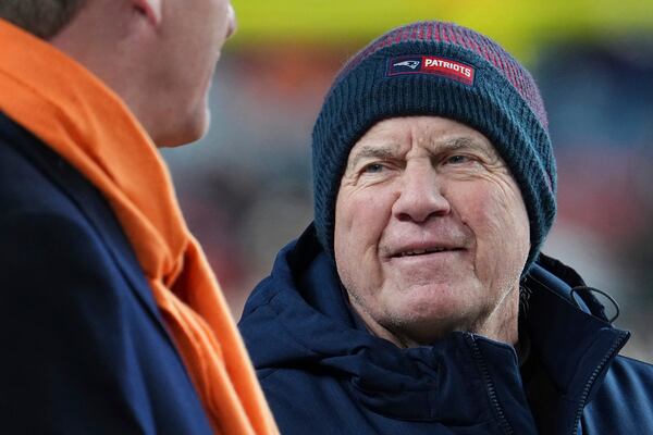
M208 127L229 0L0 17L0 432L276 433L157 152Z

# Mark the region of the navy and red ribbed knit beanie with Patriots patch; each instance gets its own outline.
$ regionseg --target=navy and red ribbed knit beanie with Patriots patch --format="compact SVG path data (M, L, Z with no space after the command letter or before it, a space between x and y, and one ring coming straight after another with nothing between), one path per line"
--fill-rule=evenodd
M482 133L521 189L530 220L526 273L556 213L556 167L544 104L519 62L488 37L421 22L381 36L352 58L312 134L315 226L333 258L335 200L349 151L379 121L435 115Z

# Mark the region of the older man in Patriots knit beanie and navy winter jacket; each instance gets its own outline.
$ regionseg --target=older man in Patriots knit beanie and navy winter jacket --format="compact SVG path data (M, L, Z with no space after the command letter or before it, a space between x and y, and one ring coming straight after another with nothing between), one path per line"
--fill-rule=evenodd
M653 433L653 370L617 356L556 212L531 75L424 22L350 59L312 137L315 223L241 330L284 434Z

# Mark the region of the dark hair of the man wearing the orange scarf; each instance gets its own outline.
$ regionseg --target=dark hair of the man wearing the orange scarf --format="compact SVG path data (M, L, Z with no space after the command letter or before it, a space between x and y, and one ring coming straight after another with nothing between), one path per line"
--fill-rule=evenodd
M49 39L57 35L87 0L0 0L0 17L30 34Z

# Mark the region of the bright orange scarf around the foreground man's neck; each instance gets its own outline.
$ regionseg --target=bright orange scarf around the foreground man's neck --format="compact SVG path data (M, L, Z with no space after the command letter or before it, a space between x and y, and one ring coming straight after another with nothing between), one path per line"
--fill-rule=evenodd
M47 42L0 20L0 110L66 159L125 231L217 433L278 434L167 167L122 100Z

